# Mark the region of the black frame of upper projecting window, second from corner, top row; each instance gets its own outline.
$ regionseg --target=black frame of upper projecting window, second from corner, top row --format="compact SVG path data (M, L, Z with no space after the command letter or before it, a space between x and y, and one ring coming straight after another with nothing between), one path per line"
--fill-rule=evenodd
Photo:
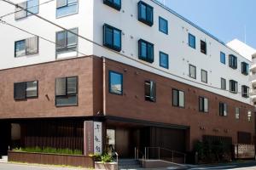
M141 5L144 5L146 7L146 19L143 18L143 16L141 16ZM137 8L138 8L138 20L143 22L144 24L148 25L148 26L153 26L154 25L154 8L150 5L148 5L148 3L144 3L143 1L139 1L137 3ZM148 19L148 10L152 11L152 20Z

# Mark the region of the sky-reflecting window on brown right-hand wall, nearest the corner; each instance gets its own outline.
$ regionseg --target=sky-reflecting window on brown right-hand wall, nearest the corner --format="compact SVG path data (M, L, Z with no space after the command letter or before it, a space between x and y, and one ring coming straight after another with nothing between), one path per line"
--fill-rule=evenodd
M123 75L115 71L109 71L109 93L123 94Z

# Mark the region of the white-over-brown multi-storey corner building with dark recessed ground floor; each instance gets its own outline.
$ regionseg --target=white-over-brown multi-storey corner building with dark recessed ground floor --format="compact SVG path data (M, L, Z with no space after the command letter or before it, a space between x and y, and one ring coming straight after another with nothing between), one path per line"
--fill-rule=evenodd
M203 136L253 144L251 61L170 8L14 2L0 2L0 16L16 11L0 32L2 154L16 146L189 153Z

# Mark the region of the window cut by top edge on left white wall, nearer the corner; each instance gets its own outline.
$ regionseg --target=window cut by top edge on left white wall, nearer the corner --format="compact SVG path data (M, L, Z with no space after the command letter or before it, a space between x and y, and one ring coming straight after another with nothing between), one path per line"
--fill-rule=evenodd
M78 0L56 0L56 17L77 14L79 12Z

